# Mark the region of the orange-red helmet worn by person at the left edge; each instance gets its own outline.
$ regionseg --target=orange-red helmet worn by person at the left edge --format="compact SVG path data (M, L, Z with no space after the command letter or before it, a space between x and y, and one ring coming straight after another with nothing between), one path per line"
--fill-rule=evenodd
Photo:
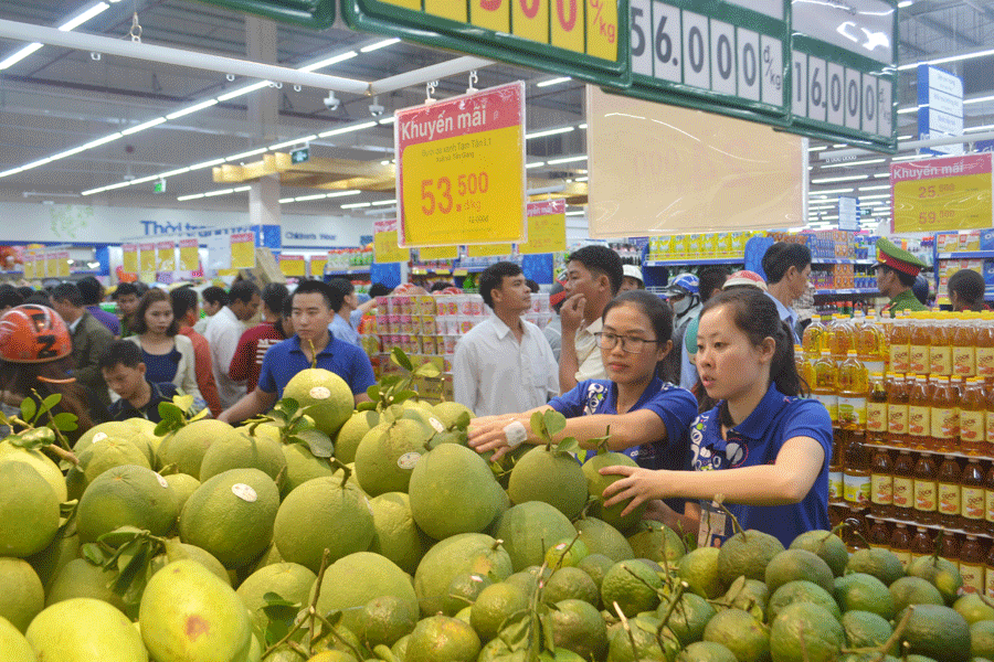
M0 317L0 359L11 363L44 363L73 351L68 327L45 306L18 306Z

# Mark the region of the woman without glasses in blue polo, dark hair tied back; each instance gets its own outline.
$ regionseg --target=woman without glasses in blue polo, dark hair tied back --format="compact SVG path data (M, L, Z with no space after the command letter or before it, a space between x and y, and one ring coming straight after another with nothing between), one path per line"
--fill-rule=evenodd
M609 467L624 478L605 490L606 504L632 498L678 496L700 524L698 542L720 545L732 524L778 537L789 546L799 534L828 528L828 459L832 421L821 403L802 399L791 334L770 298L752 288L727 290L705 305L697 333L697 371L719 401L690 430L694 473Z

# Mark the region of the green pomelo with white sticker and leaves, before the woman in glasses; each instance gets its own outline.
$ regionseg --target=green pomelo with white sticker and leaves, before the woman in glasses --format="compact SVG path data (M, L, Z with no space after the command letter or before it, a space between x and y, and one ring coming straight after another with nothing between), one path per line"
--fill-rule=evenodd
M586 505L586 478L570 453L537 446L511 469L507 495L517 505L548 503L572 520Z

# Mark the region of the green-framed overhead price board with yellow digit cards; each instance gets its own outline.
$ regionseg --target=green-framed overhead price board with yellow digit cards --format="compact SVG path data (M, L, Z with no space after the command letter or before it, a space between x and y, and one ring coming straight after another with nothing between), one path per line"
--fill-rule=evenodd
M595 85L631 83L628 0L342 0L352 30Z

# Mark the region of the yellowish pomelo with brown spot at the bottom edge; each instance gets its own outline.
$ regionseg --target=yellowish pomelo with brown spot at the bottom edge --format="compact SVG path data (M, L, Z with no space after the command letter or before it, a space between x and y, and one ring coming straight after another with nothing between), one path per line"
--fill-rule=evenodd
M170 563L152 575L138 622L157 662L242 662L252 644L241 598L194 560Z

